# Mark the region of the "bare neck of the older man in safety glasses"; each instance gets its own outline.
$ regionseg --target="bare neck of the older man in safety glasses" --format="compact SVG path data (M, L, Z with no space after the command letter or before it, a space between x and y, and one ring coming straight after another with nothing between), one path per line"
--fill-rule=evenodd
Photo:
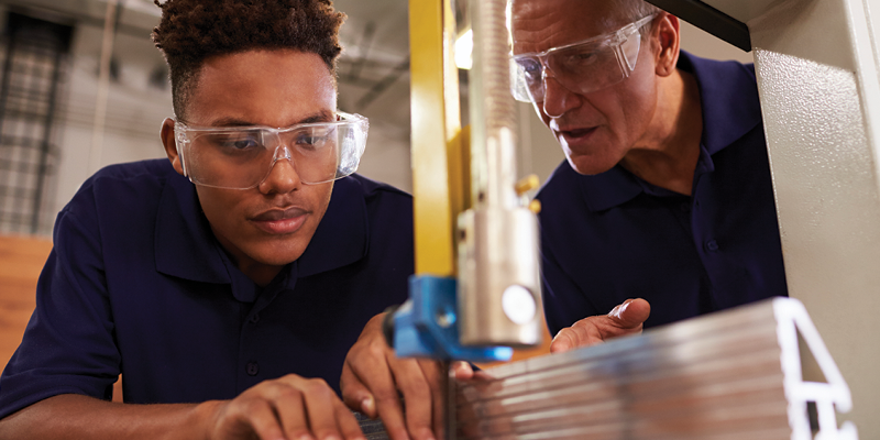
M700 90L692 75L678 69L658 85L650 128L620 165L645 182L690 196L703 134Z

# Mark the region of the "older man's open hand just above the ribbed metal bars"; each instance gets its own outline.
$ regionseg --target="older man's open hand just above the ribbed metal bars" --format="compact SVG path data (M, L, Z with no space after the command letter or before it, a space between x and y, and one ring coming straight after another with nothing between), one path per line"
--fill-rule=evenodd
M627 299L608 315L581 319L560 330L550 343L551 353L562 353L579 346L594 345L608 339L641 333L642 323L651 315L645 299Z

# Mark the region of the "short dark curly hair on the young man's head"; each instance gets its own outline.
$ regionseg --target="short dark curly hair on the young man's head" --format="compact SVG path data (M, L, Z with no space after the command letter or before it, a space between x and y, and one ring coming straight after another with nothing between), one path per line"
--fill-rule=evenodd
M332 0L167 0L153 42L168 63L177 118L206 59L251 50L297 50L319 55L336 78L345 14Z

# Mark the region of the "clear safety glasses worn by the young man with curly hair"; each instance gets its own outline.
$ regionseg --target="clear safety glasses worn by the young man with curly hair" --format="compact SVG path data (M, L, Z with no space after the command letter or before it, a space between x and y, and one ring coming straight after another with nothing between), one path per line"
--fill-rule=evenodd
M366 146L369 122L337 112L337 121L270 127L207 128L174 125L184 174L197 185L250 189L288 160L302 184L345 177L358 169Z

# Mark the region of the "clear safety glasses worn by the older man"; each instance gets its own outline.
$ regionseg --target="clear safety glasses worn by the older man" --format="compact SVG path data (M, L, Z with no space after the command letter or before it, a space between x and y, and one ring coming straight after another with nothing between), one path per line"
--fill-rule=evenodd
M585 95L623 81L636 68L639 30L657 14L590 40L510 58L510 89L522 102L542 102L544 81L552 77L562 87Z

